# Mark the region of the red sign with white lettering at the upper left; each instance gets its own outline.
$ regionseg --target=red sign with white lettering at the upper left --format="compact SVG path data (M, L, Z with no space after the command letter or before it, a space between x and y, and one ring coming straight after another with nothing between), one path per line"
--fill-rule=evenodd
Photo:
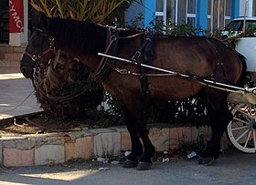
M23 0L9 0L10 33L24 32Z

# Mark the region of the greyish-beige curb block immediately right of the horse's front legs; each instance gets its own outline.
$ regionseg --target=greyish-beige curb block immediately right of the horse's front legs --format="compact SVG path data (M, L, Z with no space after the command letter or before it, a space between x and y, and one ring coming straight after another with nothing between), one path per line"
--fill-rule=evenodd
M165 151L169 149L169 128L151 128L149 138L155 146L155 151Z

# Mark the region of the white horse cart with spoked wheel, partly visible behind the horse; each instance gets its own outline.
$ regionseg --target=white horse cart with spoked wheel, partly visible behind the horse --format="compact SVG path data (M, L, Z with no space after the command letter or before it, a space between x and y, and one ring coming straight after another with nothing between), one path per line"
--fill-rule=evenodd
M246 57L250 85L256 85L256 37L243 37L237 40L236 50ZM243 152L256 153L256 97L232 102L230 108L234 118L228 125L228 136L231 143Z

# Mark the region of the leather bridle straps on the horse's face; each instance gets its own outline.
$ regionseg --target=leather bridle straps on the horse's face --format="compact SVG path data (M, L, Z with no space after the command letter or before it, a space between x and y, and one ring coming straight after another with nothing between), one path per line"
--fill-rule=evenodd
M42 29L39 29L37 27L34 27L34 29L41 32L41 33L44 32ZM33 38L33 36L32 36L32 38ZM44 56L48 55L51 52L54 54L54 56L56 56L56 54L57 54L57 50L56 50L56 47L54 45L54 37L48 37L48 40L49 40L49 46L42 53L40 53L40 54L31 54L27 50L25 50L25 52L24 52L24 55L26 55L27 57L30 57L30 59L35 63L34 75L33 76L35 76L37 73L39 73L41 71L41 67L38 64L39 59L43 58Z

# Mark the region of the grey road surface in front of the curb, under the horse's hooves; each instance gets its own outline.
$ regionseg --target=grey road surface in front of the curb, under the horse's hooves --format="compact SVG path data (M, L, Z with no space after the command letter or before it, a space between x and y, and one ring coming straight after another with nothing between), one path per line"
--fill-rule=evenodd
M123 169L121 164L72 162L53 167L0 169L0 184L256 184L256 155L232 153L221 156L212 166L198 165L197 159L155 162L152 170ZM103 170L101 170L103 169Z

